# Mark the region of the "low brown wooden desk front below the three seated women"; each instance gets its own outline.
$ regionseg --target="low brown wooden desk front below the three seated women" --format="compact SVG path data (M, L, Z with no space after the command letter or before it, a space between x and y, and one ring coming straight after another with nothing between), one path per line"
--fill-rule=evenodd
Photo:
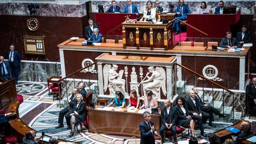
M126 108L123 109L126 110ZM136 112L88 109L89 132L140 137L139 124L144 119L142 114ZM161 126L160 116L152 114L151 120L154 122L155 129L159 133Z

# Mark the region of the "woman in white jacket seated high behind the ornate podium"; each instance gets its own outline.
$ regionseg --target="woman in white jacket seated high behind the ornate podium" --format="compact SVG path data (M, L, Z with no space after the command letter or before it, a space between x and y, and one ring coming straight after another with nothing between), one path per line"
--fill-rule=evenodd
M153 7L152 2L148 1L143 12L144 21L152 21L153 23L156 23L155 13L156 9Z

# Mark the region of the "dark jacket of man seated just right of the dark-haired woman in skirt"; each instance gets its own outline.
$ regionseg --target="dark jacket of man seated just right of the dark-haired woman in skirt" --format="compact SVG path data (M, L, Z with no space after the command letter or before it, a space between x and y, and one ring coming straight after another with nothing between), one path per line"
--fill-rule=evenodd
M191 100L190 96L186 99L184 107L188 110L191 111L192 113L203 113L201 110L201 103L198 98L195 98L196 105L194 105L193 101ZM190 113L191 113L190 112Z

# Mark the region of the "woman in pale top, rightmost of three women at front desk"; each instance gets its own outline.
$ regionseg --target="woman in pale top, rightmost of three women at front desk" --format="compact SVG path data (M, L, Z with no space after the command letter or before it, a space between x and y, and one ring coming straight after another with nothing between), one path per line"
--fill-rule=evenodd
M140 107L140 109L142 108L146 108L146 109L152 109L152 108L156 108L158 107L158 101L153 98L153 92L151 90L147 90L146 91L146 97L144 98L144 103L143 105Z

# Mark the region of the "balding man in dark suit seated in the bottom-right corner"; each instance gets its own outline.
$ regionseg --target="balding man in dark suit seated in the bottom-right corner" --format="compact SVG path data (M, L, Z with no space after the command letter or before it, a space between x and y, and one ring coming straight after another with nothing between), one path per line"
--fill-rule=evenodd
M242 143L242 140L247 139L248 136L252 135L251 123L249 121L242 121L240 124L241 133L238 136L233 137L235 144Z

